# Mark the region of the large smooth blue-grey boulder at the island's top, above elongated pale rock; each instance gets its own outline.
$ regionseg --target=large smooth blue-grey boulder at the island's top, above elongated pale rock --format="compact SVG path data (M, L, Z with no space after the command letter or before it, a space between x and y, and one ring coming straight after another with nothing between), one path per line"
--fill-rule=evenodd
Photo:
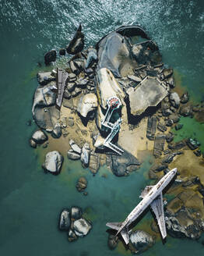
M136 62L132 57L128 40L112 32L97 43L98 68L107 68L116 77L133 73Z

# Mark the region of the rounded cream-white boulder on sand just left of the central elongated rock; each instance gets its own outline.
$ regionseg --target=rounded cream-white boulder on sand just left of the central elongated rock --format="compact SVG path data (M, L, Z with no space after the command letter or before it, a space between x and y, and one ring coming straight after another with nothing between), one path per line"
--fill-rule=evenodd
M79 99L77 112L83 117L93 110L96 110L98 105L96 94L85 94Z

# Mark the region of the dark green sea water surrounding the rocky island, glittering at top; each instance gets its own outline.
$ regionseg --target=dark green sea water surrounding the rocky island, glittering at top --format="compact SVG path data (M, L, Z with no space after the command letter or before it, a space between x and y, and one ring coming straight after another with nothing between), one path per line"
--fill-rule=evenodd
M164 62L178 71L191 97L200 101L204 99L203 5L199 0L0 1L1 255L119 255L119 251L107 249L105 223L124 219L148 183L148 160L139 172L124 178L111 176L104 167L93 177L79 162L68 160L60 176L44 174L37 154L28 145L36 126L26 126L37 87L37 62L43 61L44 52L65 46L79 22L83 23L86 45L123 23L139 23L157 41ZM200 126L188 119L185 122L204 144ZM107 179L101 177L103 172L108 173ZM82 174L89 182L88 197L75 189ZM61 208L72 204L88 207L93 230L70 244L65 233L58 232L57 217ZM151 215L146 215L148 218ZM163 246L159 240L144 255L197 256L203 252L200 242L167 237L167 244Z

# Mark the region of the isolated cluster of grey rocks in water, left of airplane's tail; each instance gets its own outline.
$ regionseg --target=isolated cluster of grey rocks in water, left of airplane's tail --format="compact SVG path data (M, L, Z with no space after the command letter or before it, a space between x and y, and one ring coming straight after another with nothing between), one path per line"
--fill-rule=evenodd
M86 236L92 229L92 223L83 218L81 208L73 206L70 211L69 208L62 210L58 220L58 228L61 231L66 231L69 242L72 242L78 237Z

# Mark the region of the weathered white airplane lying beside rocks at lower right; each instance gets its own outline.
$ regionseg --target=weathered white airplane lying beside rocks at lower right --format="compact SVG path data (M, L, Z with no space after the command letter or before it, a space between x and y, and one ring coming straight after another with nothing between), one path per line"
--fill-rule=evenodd
M134 208L134 210L128 215L124 222L107 222L106 226L111 229L118 230L121 233L122 238L125 240L125 244L129 243L129 233L128 226L135 221L141 215L142 212L149 206L152 208L154 214L156 215L157 222L160 228L160 233L164 239L167 236L167 230L164 220L164 205L162 191L171 182L177 172L177 168L172 169L155 185L146 186L140 195L142 201Z

